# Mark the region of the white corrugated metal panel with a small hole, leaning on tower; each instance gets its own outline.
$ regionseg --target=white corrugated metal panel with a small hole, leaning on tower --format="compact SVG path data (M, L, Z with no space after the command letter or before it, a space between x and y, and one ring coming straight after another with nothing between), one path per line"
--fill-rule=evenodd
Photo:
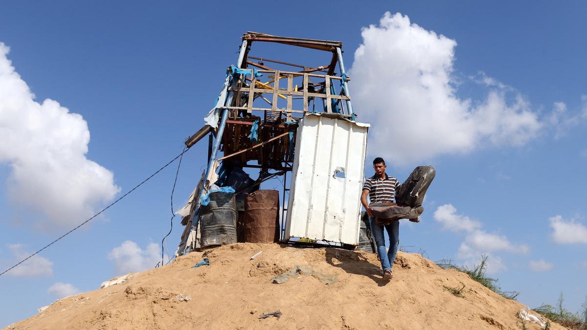
M369 124L333 113L303 117L296 137L285 238L359 244Z

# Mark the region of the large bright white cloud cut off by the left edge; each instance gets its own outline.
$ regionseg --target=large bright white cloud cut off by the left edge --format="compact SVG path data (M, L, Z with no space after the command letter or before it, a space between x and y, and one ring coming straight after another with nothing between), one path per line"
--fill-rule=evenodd
M79 224L119 187L111 171L86 158L90 132L82 116L55 100L36 102L8 52L0 42L0 164L11 167L8 196L23 211L45 215L42 228Z

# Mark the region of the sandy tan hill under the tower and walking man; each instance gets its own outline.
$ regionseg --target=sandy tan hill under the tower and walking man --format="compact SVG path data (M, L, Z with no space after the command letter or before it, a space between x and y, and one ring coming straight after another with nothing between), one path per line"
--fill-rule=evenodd
M210 265L192 268L204 257ZM8 329L522 329L524 305L463 272L403 252L392 281L378 268L376 255L360 251L226 245L63 298ZM464 297L445 288L461 282ZM277 310L281 318L259 318Z

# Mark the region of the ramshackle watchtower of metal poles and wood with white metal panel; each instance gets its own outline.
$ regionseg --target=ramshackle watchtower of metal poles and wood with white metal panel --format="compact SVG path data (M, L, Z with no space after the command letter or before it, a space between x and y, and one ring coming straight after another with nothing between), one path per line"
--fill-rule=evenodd
M315 66L251 56L251 46L258 42L330 56ZM282 208L281 240L357 245L369 125L355 121L349 80L342 42L257 32L242 36L237 65L228 68L207 124L185 142L191 147L210 134L208 166L186 206L179 254L194 248L201 203L211 191L230 187L243 196L277 176L283 177L287 206ZM259 169L258 179L243 168Z

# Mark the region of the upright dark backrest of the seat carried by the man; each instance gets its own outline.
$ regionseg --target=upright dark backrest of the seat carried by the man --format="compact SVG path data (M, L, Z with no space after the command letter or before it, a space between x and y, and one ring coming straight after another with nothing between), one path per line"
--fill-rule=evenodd
M436 176L432 166L418 166L396 191L396 203L400 206L419 207L424 201L424 194Z

